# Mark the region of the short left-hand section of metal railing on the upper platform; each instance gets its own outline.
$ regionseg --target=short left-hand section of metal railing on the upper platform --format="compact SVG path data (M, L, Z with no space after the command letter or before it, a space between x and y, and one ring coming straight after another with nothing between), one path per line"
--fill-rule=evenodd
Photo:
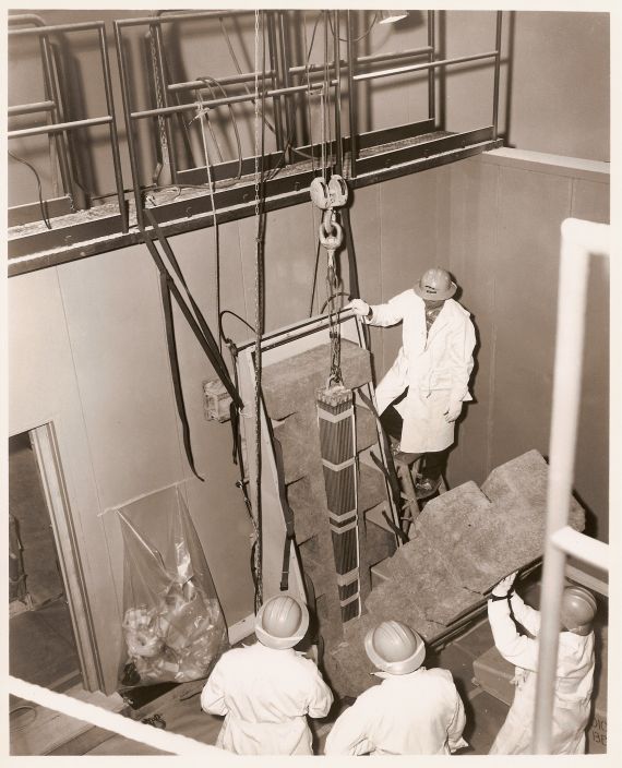
M34 24L35 26L26 26L24 28L9 28L9 40L23 39L26 37L38 37L41 50L41 63L44 73L44 88L46 93L45 101L34 101L32 104L23 104L13 106L9 109L9 116L33 115L37 112L47 112L50 120L45 125L26 128L15 131L9 131L7 137L25 139L41 134L59 135L80 128L88 128L93 125L108 125L110 139L110 152L112 155L112 166L115 170L115 182L117 197L119 202L119 214L121 217L121 228L123 232L129 230L128 212L123 194L123 180L121 173L121 160L119 155L119 137L117 135L117 121L115 116L115 101L112 98L112 84L110 80L110 64L108 60L108 48L106 44L106 31L104 22L87 22L76 24L57 24L48 26L40 16L34 14L13 15L8 17L10 25L17 24ZM62 120L61 100L59 88L55 77L53 51L50 38L59 34L72 34L79 32L94 32L97 34L97 43L101 59L101 77L104 81L104 91L106 97L107 115L101 117L92 117L83 120ZM59 154L59 166L64 191L73 197L73 182L69 166L67 146L62 141L62 135L59 135L57 142Z

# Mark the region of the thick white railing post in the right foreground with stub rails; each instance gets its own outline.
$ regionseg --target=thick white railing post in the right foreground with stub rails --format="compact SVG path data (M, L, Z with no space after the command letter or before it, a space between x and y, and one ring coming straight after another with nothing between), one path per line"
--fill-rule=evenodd
M577 440L588 266L590 257L608 259L609 250L608 225L573 218L562 223L540 649L531 745L536 755L551 753L566 557L573 555L609 572L608 545L567 525Z

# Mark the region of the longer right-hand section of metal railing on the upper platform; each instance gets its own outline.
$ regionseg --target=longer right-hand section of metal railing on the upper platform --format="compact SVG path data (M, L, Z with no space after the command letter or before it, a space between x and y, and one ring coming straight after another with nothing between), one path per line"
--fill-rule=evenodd
M346 69L347 76L347 99L349 111L349 135L342 136L340 142L335 142L335 155L337 163L345 154L346 145L349 151L350 171L349 176L355 178L356 163L359 156L360 139L357 124L357 98L356 84L366 81L372 81L382 77L394 75L412 75L420 72L428 72L428 121L421 124L421 130L427 127L433 131L435 120L435 72L452 65L480 62L491 60L494 64L494 85L493 85L493 113L490 127L490 139L497 139L498 134L498 113L499 113L499 81L500 81L500 63L501 63L501 29L502 29L502 12L497 12L497 35L495 48L483 53L474 53L470 56L460 56L447 58L443 60L435 59L435 13L434 11L427 12L428 21L428 45L421 48L408 49L395 53L381 53L372 56L358 57L355 48L355 12L346 11L346 41L347 41L347 58L345 60L338 57L338 40L339 40L339 23L340 14L338 11L324 11L325 14L334 13L333 23L333 43L334 53L333 60L325 64L304 64L291 65L288 61L289 52L286 45L286 12L282 11L264 11L266 36L267 36L267 55L270 57L270 68L260 73L261 86L259 89L259 98L271 99L273 103L273 113L275 119L275 140L278 153L287 155L287 163L294 161L294 154L297 148L297 143L292 141L295 136L295 116L291 110L290 99L299 94L321 94L324 89L324 81L313 79L313 75L325 74L328 72L328 86L334 91L335 97L340 95L342 88L342 67ZM167 67L165 65L165 49L163 41L163 26L172 22L189 22L189 21L211 21L222 20L229 16L254 14L253 10L236 10L236 11L198 11L184 13L159 13L153 16L144 16L136 19L128 19L115 22L115 37L117 43L117 56L119 60L119 72L121 76L121 91L123 98L123 109L125 116L125 128L128 134L128 146L130 155L130 164L132 169L132 180L134 197L136 202L136 216L140 225L143 226L142 216L142 189L141 189L141 169L139 163L139 154L136 151L136 141L134 136L134 127L137 120L153 119L164 120L165 135L163 142L167 144L168 160L170 169L170 178L172 184L178 181L179 168L176 161L175 140L171 129L170 119L174 116L179 116L187 111L198 112L199 110L213 109L225 105L234 105L252 101L255 97L254 89L247 91L236 95L223 95L219 97L201 98L200 100L181 100L171 103L170 97L183 94L188 91L200 92L208 86L205 81L194 79L179 82L169 82L167 77ZM325 16L325 23L327 15ZM155 48L154 56L154 80L158 80L162 84L160 104L156 107L147 109L135 109L132 99L132 83L130 79L130 68L125 60L123 31L128 27L145 26L148 28L151 41ZM427 57L427 61L422 63L403 64L394 68L372 69L371 71L360 72L360 68L374 68L384 62L396 62L408 58ZM218 83L222 85L246 85L254 83L255 72L241 72L235 75L218 77ZM307 75L308 80L304 83L295 84L294 80L298 76ZM264 83L266 85L264 85ZM282 115L282 110L284 113ZM335 120L339 122L340 128L340 110L335 110ZM285 130L284 130L285 125ZM340 133L340 131L339 131ZM475 134L474 134L475 135ZM477 134L479 139L479 133ZM313 147L311 147L313 148ZM331 160L332 161L332 160Z

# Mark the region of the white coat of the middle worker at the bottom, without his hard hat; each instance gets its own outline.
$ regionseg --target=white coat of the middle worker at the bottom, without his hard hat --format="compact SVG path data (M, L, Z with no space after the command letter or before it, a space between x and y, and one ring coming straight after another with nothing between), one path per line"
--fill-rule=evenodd
M468 746L465 710L451 672L420 667L384 677L340 715L326 755L448 755Z

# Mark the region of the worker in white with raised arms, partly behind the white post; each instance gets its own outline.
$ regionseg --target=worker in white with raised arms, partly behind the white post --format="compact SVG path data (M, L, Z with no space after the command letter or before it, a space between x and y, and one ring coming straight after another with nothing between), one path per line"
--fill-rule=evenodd
M514 701L490 749L491 755L531 754L540 612L526 605L513 590L515 577L514 573L502 579L488 601L494 645L504 659L516 665ZM514 619L536 639L518 633L510 609ZM585 753L594 682L591 623L595 615L596 600L591 592L574 586L564 589L553 703L553 755Z

